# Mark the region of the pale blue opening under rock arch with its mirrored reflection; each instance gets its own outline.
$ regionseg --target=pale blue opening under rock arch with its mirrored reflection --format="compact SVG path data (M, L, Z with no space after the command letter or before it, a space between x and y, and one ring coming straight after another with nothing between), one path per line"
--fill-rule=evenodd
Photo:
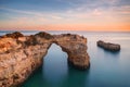
M58 83L68 71L67 53L56 44L52 44L43 58L42 74L47 82ZM53 74L52 74L53 72Z

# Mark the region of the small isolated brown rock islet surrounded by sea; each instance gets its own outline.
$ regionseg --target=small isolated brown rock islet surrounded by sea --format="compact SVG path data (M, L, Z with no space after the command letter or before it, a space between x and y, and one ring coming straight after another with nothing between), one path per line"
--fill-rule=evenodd
M119 51L120 50L120 45L117 45L117 44L104 42L102 40L99 40L96 44L99 47L101 47L105 50L108 50L108 51Z

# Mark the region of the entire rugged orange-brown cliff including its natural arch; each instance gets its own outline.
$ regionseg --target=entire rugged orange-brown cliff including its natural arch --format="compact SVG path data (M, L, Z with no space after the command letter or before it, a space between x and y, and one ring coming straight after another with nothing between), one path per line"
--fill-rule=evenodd
M16 32L0 36L0 87L16 87L42 64L52 44L68 54L68 63L80 70L89 67L87 38L79 35L39 33L24 36Z

